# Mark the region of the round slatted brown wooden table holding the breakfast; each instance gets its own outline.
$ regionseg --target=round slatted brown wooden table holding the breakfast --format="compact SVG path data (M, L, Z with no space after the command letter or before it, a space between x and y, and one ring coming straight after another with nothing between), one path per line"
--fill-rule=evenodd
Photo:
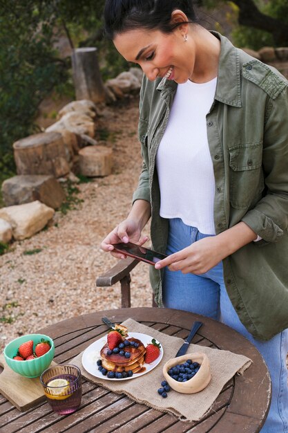
M0 432L193 432L252 433L262 427L270 403L270 379L260 353L248 340L228 326L206 317L169 308L122 308L99 311L64 320L39 332L55 341L55 361L68 362L89 344L107 332L101 318L122 322L128 317L169 335L186 338L193 321L204 325L193 339L203 346L242 353L253 360L243 376L236 376L224 386L209 414L197 423L182 423L140 405L122 395L113 394L84 380L81 407L74 414L59 416L48 403L40 403L21 413L0 395ZM155 391L158 384L155 384Z

